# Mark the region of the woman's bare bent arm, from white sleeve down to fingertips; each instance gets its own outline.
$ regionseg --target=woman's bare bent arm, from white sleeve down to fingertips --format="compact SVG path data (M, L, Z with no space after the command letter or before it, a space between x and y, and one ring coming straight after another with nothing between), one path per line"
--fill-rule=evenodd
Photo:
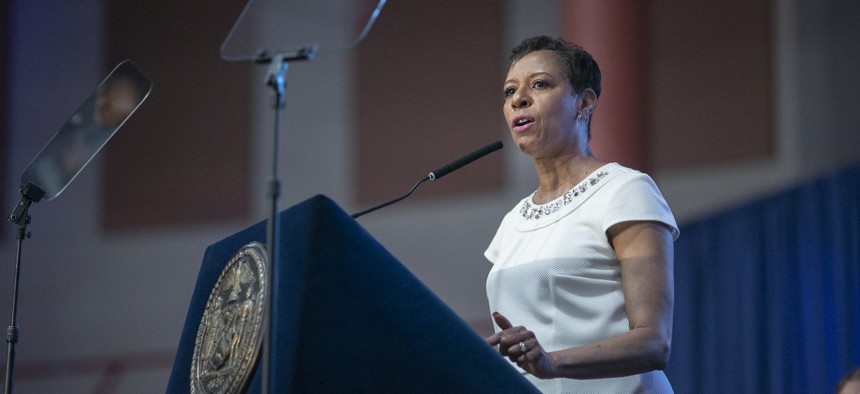
M503 331L487 342L500 345L503 355L541 378L607 378L665 368L674 304L671 232L663 224L640 221L616 224L607 234L621 265L629 331L592 345L545 352L534 333L494 316Z

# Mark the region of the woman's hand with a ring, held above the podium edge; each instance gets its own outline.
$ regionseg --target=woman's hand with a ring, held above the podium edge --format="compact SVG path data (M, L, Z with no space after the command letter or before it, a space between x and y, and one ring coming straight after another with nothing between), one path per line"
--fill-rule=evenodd
M549 379L556 376L552 358L543 350L533 332L523 326L514 327L499 312L493 312L493 320L502 331L485 338L490 346L498 345L502 356L538 378Z

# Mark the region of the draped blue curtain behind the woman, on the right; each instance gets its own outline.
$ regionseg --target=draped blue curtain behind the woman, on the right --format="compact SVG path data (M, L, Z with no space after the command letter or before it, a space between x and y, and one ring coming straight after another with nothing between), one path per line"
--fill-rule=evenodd
M833 393L860 365L860 166L683 226L675 297L676 392Z

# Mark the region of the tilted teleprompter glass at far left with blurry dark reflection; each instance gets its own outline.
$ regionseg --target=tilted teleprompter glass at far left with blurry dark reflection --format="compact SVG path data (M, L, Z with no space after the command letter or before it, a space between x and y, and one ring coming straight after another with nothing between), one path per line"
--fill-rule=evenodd
M51 200L95 157L152 89L129 60L116 66L21 174Z

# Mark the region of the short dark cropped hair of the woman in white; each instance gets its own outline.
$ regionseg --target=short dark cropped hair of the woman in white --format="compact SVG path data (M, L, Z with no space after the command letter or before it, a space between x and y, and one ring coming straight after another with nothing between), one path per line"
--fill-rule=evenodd
M581 46L560 37L526 38L511 50L508 68L523 56L541 50L552 51L564 61L565 74L574 93L579 94L585 89L591 89L597 97L600 97L600 67L597 66L597 62Z

